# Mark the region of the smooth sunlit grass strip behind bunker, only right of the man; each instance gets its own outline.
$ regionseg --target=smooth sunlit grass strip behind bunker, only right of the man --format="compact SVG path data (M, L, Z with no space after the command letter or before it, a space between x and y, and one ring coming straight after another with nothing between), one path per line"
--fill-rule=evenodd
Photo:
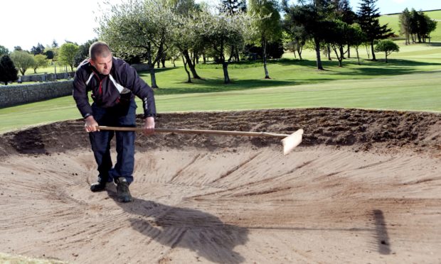
M348 107L441 111L441 72L158 97L160 112Z

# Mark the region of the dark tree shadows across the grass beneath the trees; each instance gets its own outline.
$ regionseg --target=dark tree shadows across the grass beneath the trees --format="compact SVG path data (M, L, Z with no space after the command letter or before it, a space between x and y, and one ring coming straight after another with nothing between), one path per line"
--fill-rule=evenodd
M190 94L190 93L209 93L209 92L229 92L245 89L258 89L265 87L281 87L294 86L299 84L317 84L321 82L329 82L336 79L365 79L363 77L388 77L397 75L408 75L411 73L423 73L425 71L419 70L418 67L425 66L439 66L441 63L437 62L420 62L414 60L389 59L388 63L384 60L363 60L361 65L358 65L355 58L346 59L343 62L343 67L339 67L337 60L323 60L324 70L317 70L317 63L315 60L298 60L298 59L279 59L270 60L269 65L277 65L280 67L307 67L314 75L314 70L320 72L320 75L313 78L296 78L297 68L293 68L292 75L284 77L283 79L234 79L238 76L241 68L246 67L262 67L262 63L255 62L231 62L230 65L236 65L236 68L229 68L231 83L224 84L223 75L220 73L217 78L207 79L192 79L192 83L175 82L173 87L161 87L155 90L155 94ZM201 68L213 69L222 67L221 65L206 64ZM166 68L166 70L176 69ZM239 72L240 75L240 72ZM270 72L271 76L271 72ZM336 77L338 76L338 77ZM157 77L160 79L160 75Z

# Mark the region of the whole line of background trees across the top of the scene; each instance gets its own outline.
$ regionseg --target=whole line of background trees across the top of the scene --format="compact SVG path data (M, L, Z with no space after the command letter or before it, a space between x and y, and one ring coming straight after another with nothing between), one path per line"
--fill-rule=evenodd
M259 58L265 78L270 78L267 59L281 57L284 50L301 60L304 48L315 50L319 70L324 70L322 55L331 60L334 53L342 67L344 59L351 57L351 48L360 63L361 45L366 45L368 58L376 60L376 52L384 52L387 62L388 55L399 48L390 40L396 35L387 24L379 23L376 1L362 0L355 12L349 0L299 0L297 4L287 0L221 0L216 7L194 0L124 0L106 4L109 9L97 17L96 31L115 56L129 63L146 63L152 87L158 87L155 67L165 67L166 60L182 60L191 82L201 79L196 65L208 58L222 65L228 84L228 63ZM400 33L405 35L406 44L410 38L413 43L425 42L436 26L436 21L414 9L405 9L400 15ZM36 56L43 54L73 70L87 57L93 41L65 43L60 48L53 45L46 51L38 43L31 53L16 47L10 55L22 75L30 65L36 67L40 60ZM18 55L26 57L25 53L33 54L33 62L18 60Z

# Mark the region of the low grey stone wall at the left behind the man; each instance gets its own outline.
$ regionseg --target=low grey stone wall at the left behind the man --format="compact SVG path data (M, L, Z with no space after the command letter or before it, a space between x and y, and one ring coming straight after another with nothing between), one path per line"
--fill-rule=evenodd
M0 86L0 108L72 94L73 80Z

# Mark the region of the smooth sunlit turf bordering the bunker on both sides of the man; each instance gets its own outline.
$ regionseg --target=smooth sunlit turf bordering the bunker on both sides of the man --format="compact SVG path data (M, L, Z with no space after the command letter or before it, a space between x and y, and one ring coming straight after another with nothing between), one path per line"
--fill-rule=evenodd
M156 105L159 113L320 106L441 111L440 83L441 72L433 71L362 81L332 79L317 84L231 89L228 92L164 94L156 96ZM141 105L139 101L138 105ZM139 107L138 113L141 112ZM72 97L61 97L0 109L0 132L78 118L80 114Z

